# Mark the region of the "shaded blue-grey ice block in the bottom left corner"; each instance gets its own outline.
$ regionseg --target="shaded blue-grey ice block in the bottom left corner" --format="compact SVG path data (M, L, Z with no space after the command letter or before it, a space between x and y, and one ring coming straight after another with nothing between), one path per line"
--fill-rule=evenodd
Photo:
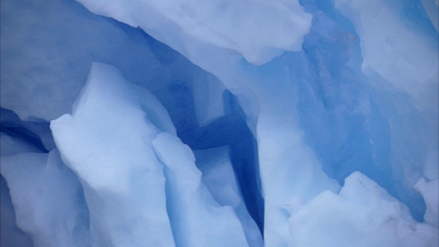
M16 224L34 246L88 246L88 212L78 178L58 150L1 157Z

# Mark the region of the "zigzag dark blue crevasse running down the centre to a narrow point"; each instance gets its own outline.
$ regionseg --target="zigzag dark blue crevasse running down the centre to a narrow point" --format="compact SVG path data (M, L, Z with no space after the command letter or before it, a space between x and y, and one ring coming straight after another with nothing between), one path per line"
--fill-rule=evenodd
M125 25L121 27L131 28ZM261 196L257 141L246 124L246 115L237 99L229 91L224 91L224 108L228 109L229 113L200 127L195 115L191 83L195 75L205 76L207 72L148 34L143 35L156 59L168 71L166 77L157 78L156 84L143 86L150 89L165 106L176 126L178 137L192 150L229 146L230 162L244 202L263 233L264 202Z

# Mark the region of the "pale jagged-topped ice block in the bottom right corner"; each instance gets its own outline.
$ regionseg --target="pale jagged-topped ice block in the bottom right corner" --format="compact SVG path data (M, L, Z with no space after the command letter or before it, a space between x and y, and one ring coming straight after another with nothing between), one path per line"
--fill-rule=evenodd
M359 172L337 195L324 191L292 214L296 246L438 246L438 228L416 222L404 204Z

